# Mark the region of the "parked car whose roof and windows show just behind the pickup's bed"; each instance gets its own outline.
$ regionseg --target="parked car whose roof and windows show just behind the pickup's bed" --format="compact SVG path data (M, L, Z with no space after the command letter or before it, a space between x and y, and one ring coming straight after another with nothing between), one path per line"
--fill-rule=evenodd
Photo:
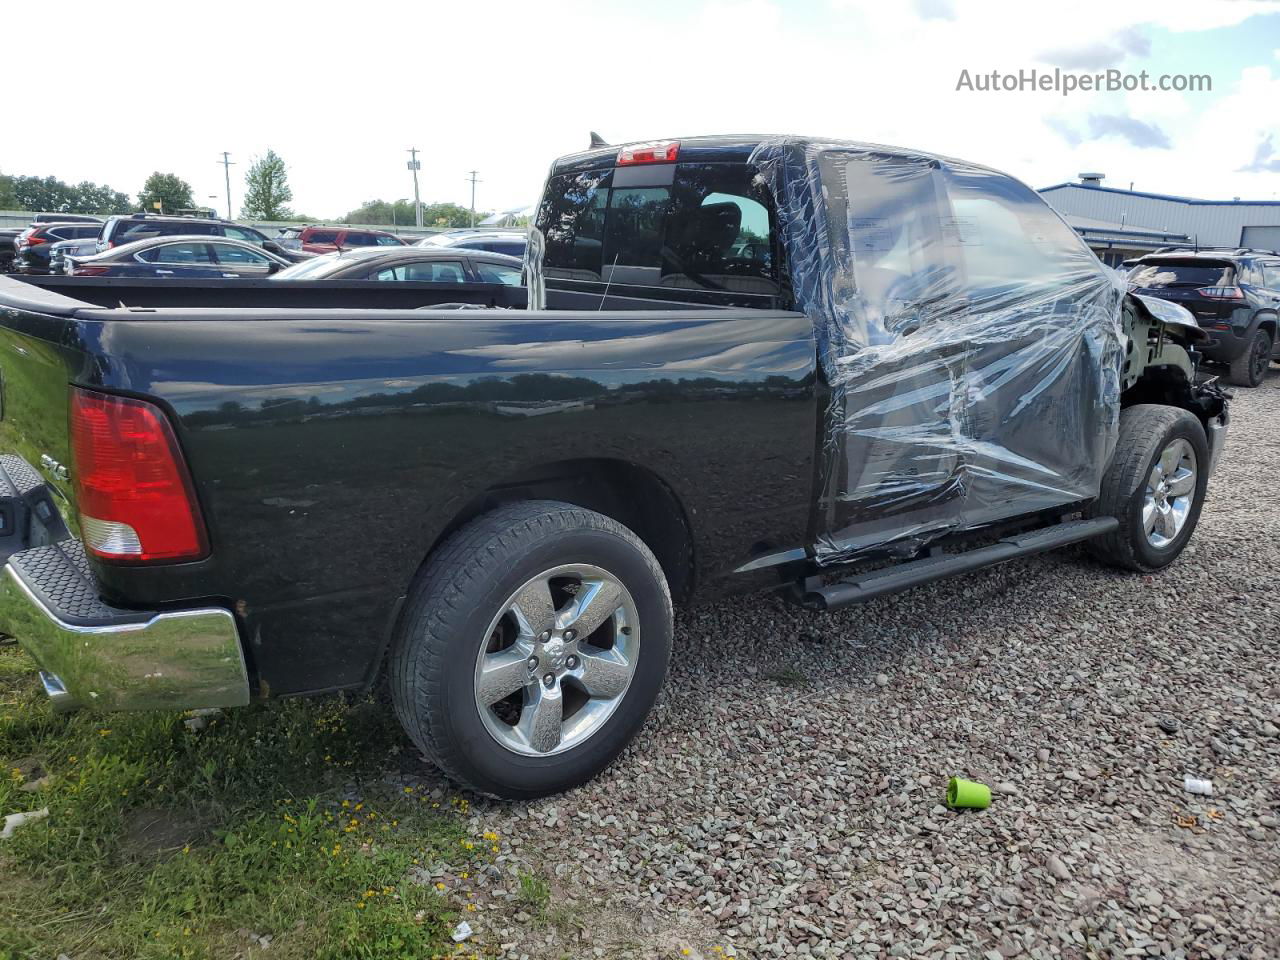
M479 250L421 247L358 247L340 253L321 253L294 264L273 279L288 280L384 280L417 283L504 283L520 285L521 261Z

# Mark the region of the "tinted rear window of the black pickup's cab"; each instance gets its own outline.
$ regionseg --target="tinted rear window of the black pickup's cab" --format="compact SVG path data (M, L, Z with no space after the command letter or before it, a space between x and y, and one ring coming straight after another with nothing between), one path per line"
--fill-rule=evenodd
M777 293L777 218L751 168L677 164L649 180L623 169L626 180L613 170L552 180L538 212L548 278Z

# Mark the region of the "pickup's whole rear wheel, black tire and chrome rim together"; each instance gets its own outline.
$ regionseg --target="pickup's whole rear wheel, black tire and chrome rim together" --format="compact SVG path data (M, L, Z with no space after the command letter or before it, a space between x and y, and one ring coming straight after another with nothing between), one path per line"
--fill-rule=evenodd
M420 573L390 660L413 742L477 792L577 786L640 730L671 653L666 577L621 524L567 503L500 507Z

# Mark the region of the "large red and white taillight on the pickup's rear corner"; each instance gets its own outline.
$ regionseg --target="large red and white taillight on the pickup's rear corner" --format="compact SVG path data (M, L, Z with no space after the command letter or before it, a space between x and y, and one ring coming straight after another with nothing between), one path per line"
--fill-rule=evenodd
M191 476L164 411L78 387L70 407L72 479L88 552L132 563L209 553Z

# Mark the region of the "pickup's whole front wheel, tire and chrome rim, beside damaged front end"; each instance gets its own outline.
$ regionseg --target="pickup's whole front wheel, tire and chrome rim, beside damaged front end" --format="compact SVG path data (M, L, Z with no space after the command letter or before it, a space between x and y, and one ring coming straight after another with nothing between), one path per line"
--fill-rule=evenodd
M1089 511L1120 526L1092 540L1092 553L1126 570L1167 567L1199 522L1207 468L1204 428L1185 410L1157 403L1121 410L1115 454Z

